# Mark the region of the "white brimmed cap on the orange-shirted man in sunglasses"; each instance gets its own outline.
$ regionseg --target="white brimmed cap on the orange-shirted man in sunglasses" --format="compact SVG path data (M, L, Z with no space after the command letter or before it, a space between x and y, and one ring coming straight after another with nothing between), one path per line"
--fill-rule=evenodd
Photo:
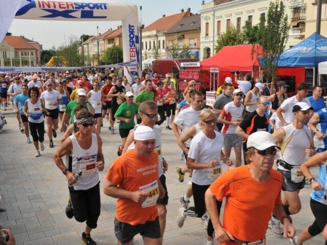
M276 144L272 135L266 131L258 131L249 135L246 142L247 149L255 148L256 150L263 151L270 147L276 147L278 149L279 146Z

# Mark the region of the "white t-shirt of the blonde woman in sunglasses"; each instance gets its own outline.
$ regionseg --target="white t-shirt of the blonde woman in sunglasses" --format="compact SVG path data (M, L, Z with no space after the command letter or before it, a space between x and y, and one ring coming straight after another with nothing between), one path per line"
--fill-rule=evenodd
M224 137L217 131L215 131L215 134L216 137L214 139L209 139L203 132L198 133L191 142L188 157L195 159L196 163L208 163L211 160L217 160L220 164L220 151L224 143ZM197 185L211 185L214 180L208 180L209 172L217 167L219 166L193 169L192 182Z

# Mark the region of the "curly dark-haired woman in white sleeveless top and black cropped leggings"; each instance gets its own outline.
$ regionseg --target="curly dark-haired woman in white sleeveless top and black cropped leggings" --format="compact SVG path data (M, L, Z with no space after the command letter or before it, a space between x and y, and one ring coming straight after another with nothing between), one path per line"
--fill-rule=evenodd
M29 98L25 101L24 114L28 117L33 144L36 149L35 157L39 157L39 142L41 151L44 151L44 117L42 112L50 114L44 106L43 100L39 98L40 91L37 87L29 88Z

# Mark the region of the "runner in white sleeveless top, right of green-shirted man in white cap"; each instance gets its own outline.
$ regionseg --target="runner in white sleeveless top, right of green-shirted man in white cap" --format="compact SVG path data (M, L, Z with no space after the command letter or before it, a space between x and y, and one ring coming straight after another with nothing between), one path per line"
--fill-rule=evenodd
M93 90L90 90L87 93L87 99L91 103L92 107L95 109L94 118L96 120L96 128L97 132L100 135L101 131L101 119L102 119L102 111L101 111L101 105L102 105L102 93L99 90L99 83L94 82L93 83Z

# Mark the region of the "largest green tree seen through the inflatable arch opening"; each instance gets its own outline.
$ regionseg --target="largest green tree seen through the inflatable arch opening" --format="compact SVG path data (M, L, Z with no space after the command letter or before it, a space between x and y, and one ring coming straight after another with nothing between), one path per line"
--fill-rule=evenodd
M78 42L77 37L73 35L65 39L56 50L55 65L82 66L83 57L78 53Z

